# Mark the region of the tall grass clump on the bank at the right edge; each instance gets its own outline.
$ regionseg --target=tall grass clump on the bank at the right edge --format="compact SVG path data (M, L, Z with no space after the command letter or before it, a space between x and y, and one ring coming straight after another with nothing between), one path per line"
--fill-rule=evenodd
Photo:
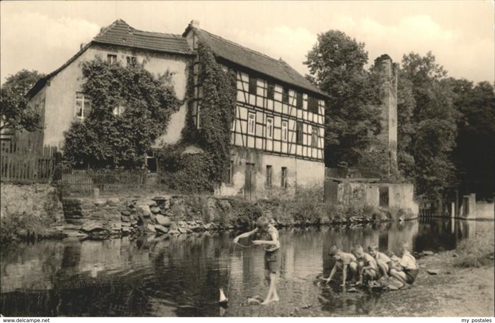
M494 257L493 228L483 228L474 237L463 239L457 246L458 257L454 265L462 268L479 268L493 264Z

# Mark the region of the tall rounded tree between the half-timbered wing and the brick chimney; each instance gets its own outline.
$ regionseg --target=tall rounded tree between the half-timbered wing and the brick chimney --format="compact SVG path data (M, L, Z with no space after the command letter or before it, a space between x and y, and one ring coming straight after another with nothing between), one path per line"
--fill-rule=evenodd
M368 53L345 33L330 30L306 55L310 79L329 99L325 109L325 165L355 165L380 133L380 78L366 71Z

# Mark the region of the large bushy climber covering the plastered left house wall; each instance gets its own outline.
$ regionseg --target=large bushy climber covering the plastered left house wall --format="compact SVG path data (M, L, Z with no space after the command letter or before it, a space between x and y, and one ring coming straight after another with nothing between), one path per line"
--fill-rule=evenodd
M64 133L64 159L73 166L138 168L181 102L171 74L154 78L144 66L101 59L84 62L83 90L91 111Z

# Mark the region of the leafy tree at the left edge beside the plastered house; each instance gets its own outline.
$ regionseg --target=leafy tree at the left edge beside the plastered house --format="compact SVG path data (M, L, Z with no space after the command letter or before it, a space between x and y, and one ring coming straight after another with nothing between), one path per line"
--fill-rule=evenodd
M0 90L0 130L36 131L43 129L42 111L28 106L27 92L44 77L38 71L23 69L9 75Z

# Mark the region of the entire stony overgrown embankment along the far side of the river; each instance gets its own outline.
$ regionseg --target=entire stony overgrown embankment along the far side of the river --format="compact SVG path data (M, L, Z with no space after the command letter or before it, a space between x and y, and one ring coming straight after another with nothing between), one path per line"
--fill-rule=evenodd
M262 215L277 227L376 223L414 217L404 210L327 204L320 189L299 189L292 199L255 202L213 195L96 199L64 196L63 213L56 190L50 185L2 185L3 196L6 203L2 203L2 240L67 236L102 239L143 233L166 237L193 231L246 230Z

